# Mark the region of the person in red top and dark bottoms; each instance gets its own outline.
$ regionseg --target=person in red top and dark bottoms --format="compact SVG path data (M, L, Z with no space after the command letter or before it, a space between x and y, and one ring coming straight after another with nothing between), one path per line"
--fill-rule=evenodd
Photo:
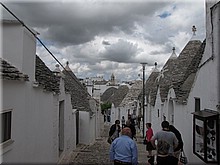
M146 127L147 127L146 137L145 137L147 140L146 150L148 151L148 157L151 157L152 150L155 149L151 143L151 138L154 135L154 133L153 133L153 129L151 128L151 123L146 123Z

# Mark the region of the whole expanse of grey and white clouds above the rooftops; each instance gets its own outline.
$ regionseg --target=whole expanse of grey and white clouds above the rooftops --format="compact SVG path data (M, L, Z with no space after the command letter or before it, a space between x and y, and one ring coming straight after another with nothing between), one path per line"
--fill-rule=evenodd
M165 57L164 54L171 54L172 47L175 46L176 41L170 38L175 38L178 31L190 33L191 26L195 22L198 23L196 26L200 32L198 36L205 36L205 32L201 34L204 29L204 25L201 26L204 23L204 18L200 17L202 13L199 13L197 17L193 16L188 23L184 21L183 25L179 19L170 19L173 15L166 19L158 17L158 14L167 10L167 5L169 9L170 4L172 6L176 1L103 2L93 0L94 3L87 0L79 1L12 1L5 2L5 4L26 25L36 29L40 33L39 38L48 46L53 45L56 51L61 51L61 53L56 53L59 54L59 59L68 59L72 64L80 63L81 68L85 67L83 71L89 70L87 73L82 73L84 75L113 72L114 69L120 67L118 65L120 62L133 63L133 67L135 62L140 63L135 58L146 60L147 67L153 67L154 62L158 61L158 67L161 67L163 61L161 58ZM178 7L182 9L182 6ZM176 9L175 12L177 11ZM194 10L191 12L193 13ZM3 17L6 15L8 14L3 11ZM180 22L178 26L176 22ZM140 46L148 46L149 43L150 47L156 45L163 49L148 52L143 57L143 50L140 50L138 45L126 41L128 38L125 36L135 41L141 39L137 42L144 42ZM98 40L101 43L93 44L96 43L93 41L97 38L103 40ZM116 38L122 39L115 43ZM176 52L179 52L179 49L176 47ZM110 62L102 63L102 60Z

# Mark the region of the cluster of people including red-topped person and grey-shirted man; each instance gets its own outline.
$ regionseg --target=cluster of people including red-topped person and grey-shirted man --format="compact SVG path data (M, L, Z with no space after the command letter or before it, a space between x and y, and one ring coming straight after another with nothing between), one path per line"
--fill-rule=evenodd
M161 123L162 130L153 135L151 123L147 123L146 140L147 151L149 152L148 163L177 165L179 163L179 155L183 150L183 140L180 132L168 121ZM157 141L157 145L155 145ZM157 150L157 155L152 155L152 150Z

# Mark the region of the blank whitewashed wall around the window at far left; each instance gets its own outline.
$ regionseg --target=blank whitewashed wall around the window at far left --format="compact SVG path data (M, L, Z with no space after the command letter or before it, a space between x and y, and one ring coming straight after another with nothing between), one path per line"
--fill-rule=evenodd
M52 122L58 110L53 104L56 96L20 82L7 82L3 87L2 109L12 109L13 140L10 150L3 153L3 162L56 162Z

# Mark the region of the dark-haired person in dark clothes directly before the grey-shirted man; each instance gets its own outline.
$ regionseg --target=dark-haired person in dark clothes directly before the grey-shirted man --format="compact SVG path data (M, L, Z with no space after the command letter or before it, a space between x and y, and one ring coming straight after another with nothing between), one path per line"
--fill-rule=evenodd
M158 140L157 142L157 155L152 156L147 165L180 165L179 160L169 155L170 145L165 140Z

